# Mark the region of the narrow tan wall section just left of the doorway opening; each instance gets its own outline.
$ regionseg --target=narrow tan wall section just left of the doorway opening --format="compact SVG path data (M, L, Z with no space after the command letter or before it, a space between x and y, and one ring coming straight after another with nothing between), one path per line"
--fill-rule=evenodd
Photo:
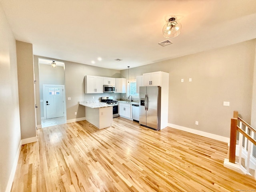
M21 139L36 136L32 44L16 41Z

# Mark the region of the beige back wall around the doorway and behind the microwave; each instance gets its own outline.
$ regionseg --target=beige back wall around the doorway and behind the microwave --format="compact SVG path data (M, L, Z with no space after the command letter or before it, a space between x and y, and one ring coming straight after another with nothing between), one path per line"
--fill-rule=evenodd
M34 65L38 66L38 58L45 58L50 60L58 60L55 58L46 58L42 56L34 56ZM65 89L66 89L66 116L67 120L74 120L76 118L85 117L85 108L78 104L79 101L84 99L90 100L92 96L95 96L95 100L104 94L85 94L84 93L84 76L94 75L94 76L106 76L106 77L121 77L120 70L112 70L101 67L90 66L86 64L80 64L75 62L69 62L64 60L58 60L64 62L64 72L65 72ZM36 70L36 67L35 67ZM37 67L37 70L40 70ZM38 78L39 72L35 71L35 78ZM40 81L40 80L39 80ZM41 82L40 82L41 83ZM108 94L109 95L109 94ZM71 100L67 100L71 97ZM36 102L40 103L40 88L39 83L36 85ZM40 119L40 105L37 109L37 120L38 125L41 124ZM77 112L77 115L74 113ZM40 122L40 124L39 124Z

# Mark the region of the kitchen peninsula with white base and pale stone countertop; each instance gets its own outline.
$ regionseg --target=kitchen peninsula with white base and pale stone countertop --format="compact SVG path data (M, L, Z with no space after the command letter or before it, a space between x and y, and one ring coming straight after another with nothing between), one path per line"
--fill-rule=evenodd
M98 129L110 127L113 121L113 106L99 101L82 101L85 106L85 120Z

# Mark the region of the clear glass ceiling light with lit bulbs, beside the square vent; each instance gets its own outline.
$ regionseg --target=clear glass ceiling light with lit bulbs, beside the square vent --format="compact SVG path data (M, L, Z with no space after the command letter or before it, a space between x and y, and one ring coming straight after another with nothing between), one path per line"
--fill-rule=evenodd
M181 23L172 17L163 27L163 35L165 38L174 38L180 34Z

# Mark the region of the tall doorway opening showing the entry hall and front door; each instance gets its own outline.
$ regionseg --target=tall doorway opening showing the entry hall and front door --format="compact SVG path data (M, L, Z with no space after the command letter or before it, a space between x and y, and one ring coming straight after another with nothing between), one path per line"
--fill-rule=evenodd
M42 128L66 123L64 62L39 58Z

